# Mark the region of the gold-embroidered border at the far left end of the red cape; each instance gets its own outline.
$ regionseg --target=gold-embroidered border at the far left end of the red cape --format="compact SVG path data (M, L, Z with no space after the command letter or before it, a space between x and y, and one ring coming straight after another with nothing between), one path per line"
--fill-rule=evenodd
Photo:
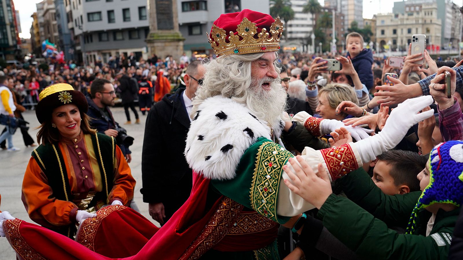
M46 259L41 254L33 250L19 233L19 226L23 221L15 218L13 220L5 220L3 229L5 230L6 239L10 242L14 251L25 260L42 260Z

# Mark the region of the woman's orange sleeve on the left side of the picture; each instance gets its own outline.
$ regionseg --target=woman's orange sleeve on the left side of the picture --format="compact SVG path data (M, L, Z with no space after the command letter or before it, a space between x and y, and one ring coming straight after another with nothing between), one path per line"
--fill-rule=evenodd
M39 224L48 222L55 226L62 226L74 223L76 205L56 199L52 194L45 173L31 157L22 186L22 200L29 217Z

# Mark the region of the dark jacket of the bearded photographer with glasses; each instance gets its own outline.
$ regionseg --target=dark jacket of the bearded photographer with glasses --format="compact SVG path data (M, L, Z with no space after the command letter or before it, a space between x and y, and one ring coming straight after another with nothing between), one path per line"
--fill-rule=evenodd
M87 97L87 102L88 102L88 111L87 115L90 117L90 127L93 129L96 129L99 133L105 134L105 131L108 129L119 129L120 126L114 120L113 118L113 113L111 113L111 110L109 110L109 107L106 106L106 111L109 114L109 117L107 117L105 114L101 113L100 108L93 102L93 100L90 97ZM117 140L117 138L116 138ZM125 147L123 144L119 144L119 148L122 150L122 153L125 154L131 154L132 152L129 150L128 147Z

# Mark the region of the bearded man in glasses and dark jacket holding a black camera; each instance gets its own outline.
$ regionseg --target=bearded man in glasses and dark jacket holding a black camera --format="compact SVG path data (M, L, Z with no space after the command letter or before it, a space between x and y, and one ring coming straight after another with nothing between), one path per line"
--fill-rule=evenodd
M91 118L90 126L102 134L116 138L119 130L123 128L114 120L113 113L109 109L110 106L114 105L114 99L116 98L113 84L106 79L94 80L90 86L90 96L87 97L87 115ZM131 162L132 152L129 147L122 143L118 143L118 145L125 156L125 160Z

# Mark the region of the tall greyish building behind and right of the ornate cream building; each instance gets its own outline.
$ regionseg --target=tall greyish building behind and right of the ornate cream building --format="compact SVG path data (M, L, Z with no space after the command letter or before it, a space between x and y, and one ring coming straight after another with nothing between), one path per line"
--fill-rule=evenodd
M416 12L416 6L419 5L430 5L436 4L437 10L434 11L436 14L436 19L440 20L441 30L440 30L440 43L434 42L434 44L439 44L441 49L458 48L458 42L461 41L461 14L458 11L457 4L453 3L451 0L407 0L401 2L394 2L394 7L392 12L395 14L406 14ZM412 10L412 8L414 10ZM434 14L433 13L433 14ZM457 39L460 39L458 41ZM451 44L450 44L451 43Z

